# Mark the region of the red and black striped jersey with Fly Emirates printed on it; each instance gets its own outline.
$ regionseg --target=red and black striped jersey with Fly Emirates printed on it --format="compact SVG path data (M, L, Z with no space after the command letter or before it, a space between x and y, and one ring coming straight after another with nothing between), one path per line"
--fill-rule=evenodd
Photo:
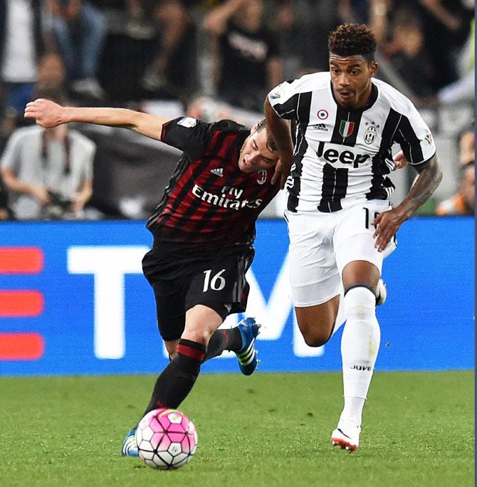
M255 221L277 194L274 169L246 173L239 155L249 135L231 120L181 117L164 124L161 140L183 151L164 197L147 221L154 242L216 248L252 244Z

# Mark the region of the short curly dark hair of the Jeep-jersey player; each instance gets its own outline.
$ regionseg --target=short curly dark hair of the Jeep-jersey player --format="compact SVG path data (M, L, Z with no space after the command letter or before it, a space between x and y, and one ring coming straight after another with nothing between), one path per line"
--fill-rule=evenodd
M372 62L376 53L376 39L364 23L345 23L330 33L328 50L343 58L362 56L366 61Z

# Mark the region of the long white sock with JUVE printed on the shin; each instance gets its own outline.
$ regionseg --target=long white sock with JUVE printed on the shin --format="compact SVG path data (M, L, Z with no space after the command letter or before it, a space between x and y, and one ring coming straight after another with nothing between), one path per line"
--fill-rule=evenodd
M361 424L362 408L371 383L381 332L376 297L368 288L352 288L345 295L347 322L341 339L345 409L341 419Z

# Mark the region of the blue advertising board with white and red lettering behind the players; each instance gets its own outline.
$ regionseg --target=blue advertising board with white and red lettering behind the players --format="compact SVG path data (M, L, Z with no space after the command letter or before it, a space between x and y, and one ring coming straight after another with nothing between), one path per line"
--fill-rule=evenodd
M473 218L414 218L384 261L378 370L473 367ZM305 345L288 290L281 220L257 224L246 315L263 324L261 371L340 370L340 334ZM155 373L167 363L141 258L142 221L0 224L0 375ZM234 326L241 315L227 318ZM238 372L233 354L204 372Z

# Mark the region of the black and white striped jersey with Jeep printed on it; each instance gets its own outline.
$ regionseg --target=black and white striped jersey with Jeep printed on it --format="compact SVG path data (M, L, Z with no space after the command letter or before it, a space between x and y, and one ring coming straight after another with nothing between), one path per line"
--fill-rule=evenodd
M409 164L421 164L436 152L431 131L412 102L381 80L372 80L369 103L358 110L337 104L329 72L285 81L268 100L278 116L297 122L287 181L290 211L331 212L389 199L394 143Z

